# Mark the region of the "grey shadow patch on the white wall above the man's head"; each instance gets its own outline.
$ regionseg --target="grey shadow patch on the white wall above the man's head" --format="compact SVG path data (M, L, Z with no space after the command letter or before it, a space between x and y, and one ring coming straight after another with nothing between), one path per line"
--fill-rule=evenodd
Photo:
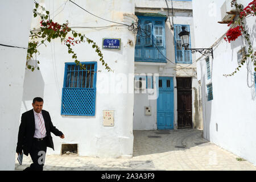
M26 111L31 108L31 105L26 105L26 101L32 101L35 97L44 97L43 76L41 71L38 69L35 69L34 72L30 69L26 69L22 97L22 102Z

